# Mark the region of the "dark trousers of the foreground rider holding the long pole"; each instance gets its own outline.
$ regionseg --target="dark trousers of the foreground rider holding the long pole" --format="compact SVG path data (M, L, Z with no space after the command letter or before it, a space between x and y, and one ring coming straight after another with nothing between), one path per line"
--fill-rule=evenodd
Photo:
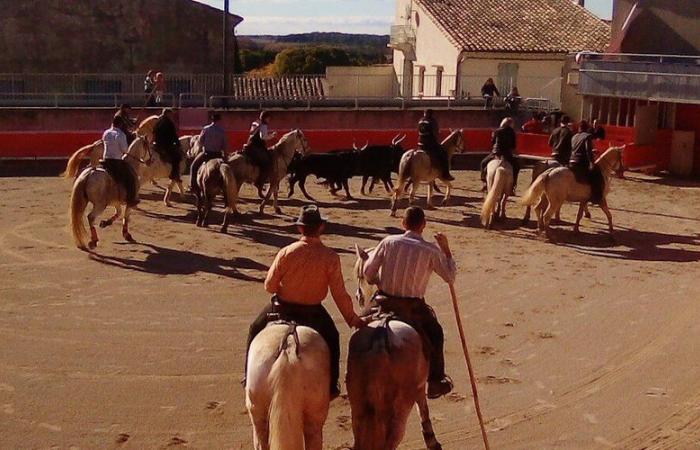
M445 378L445 334L433 308L420 298L384 297L383 294L375 297L375 302L382 312L396 314L418 332L423 340L423 353L430 363L428 381Z

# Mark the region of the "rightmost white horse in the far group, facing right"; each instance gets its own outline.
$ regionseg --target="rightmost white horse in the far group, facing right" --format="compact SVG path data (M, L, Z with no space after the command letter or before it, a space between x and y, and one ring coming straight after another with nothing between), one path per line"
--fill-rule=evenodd
M622 163L623 151L624 147L611 147L595 162L603 173L603 199L600 202L600 208L608 219L608 230L611 236L613 223L607 195L610 192L610 179L613 174L620 174L624 170ZM537 177L537 180L532 183L521 201L525 205L535 206L538 233L546 232L549 235L549 224L552 216L561 208L565 201L579 204L576 223L574 224L574 232L578 232L581 217L590 199L591 186L587 183L579 183L574 173L568 167L560 167L547 170Z

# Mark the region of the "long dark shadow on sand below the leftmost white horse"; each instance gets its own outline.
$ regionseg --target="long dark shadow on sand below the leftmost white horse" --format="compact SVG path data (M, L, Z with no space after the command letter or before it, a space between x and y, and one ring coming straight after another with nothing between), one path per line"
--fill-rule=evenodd
M218 258L160 247L154 244L138 244L145 247L143 260L91 253L90 259L109 266L157 275L192 275L199 272L235 278L243 281L262 282L264 277L255 277L241 269L265 272L268 267L250 258Z

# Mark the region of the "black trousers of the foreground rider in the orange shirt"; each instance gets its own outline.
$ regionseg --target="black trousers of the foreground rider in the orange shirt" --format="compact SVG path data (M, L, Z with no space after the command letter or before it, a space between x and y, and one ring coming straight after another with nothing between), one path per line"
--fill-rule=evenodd
M338 386L338 379L340 378L340 335L333 319L323 305L297 305L273 297L270 304L263 308L260 315L250 325L248 342L246 343L246 374L250 344L255 339L255 336L265 329L268 323L276 320L293 321L298 325L313 328L325 339L331 352L330 389L333 392Z

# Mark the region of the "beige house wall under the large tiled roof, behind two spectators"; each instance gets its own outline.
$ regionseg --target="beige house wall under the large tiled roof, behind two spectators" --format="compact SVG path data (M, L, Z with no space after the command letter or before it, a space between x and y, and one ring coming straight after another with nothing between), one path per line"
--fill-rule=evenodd
M556 105L561 103L561 76L565 55L527 53L467 53L460 65L460 90L464 96L481 96L481 86L487 78L496 81L501 95L508 94L510 84L499 86L498 66L501 63L518 65L514 85L522 97L545 97Z

